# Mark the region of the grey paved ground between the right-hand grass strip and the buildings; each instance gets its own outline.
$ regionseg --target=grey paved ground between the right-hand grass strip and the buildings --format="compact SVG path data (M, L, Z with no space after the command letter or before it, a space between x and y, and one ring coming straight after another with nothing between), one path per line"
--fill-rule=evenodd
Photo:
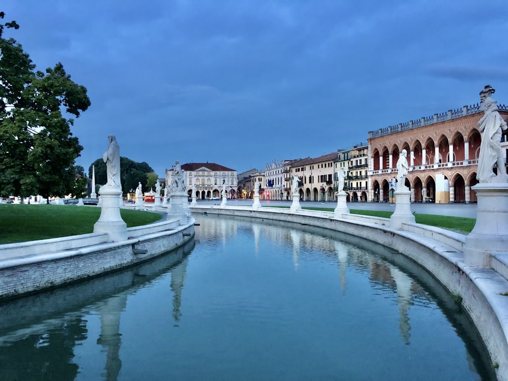
M198 205L220 205L221 200L203 201L198 200ZM228 205L252 205L253 200L228 200ZM291 201L261 201L262 206L291 206ZM313 201L300 201L302 208L305 207L324 207L335 208L336 202L313 202ZM377 203L377 202L348 202L347 207L350 209L362 210L383 210L395 211L395 204L390 203ZM477 204L411 204L411 210L419 214L436 214L436 215L449 215L454 217L468 217L476 218Z

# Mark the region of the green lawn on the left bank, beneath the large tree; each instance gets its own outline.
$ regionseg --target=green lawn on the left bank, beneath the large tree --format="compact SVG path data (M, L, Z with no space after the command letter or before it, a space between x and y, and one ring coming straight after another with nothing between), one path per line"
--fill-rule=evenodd
M157 213L120 209L128 228L161 219ZM93 232L101 208L71 205L0 205L0 244Z

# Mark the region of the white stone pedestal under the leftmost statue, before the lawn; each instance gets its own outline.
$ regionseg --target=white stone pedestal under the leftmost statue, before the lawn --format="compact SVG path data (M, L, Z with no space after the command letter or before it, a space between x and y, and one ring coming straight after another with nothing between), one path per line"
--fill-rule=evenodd
M120 215L120 207L118 206L118 196L122 191L111 185L101 186L99 189L101 195L101 216L93 225L94 233L108 233L109 238L113 242L127 240L127 224Z

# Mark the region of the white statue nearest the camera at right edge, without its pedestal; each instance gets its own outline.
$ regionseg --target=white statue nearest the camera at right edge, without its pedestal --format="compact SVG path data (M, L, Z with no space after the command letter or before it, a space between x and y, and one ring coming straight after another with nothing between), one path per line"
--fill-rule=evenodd
M497 102L491 98L494 92L495 90L490 85L480 91L480 107L485 111L485 115L478 121L478 129L482 133L477 172L477 179L480 182L507 181L501 151L501 135L502 131L506 130L506 122L499 115ZM497 168L497 176L492 170L494 167Z

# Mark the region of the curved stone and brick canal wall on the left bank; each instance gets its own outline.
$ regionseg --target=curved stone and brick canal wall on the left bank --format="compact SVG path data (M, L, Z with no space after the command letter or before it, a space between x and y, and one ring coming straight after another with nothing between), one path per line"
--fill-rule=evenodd
M129 228L120 242L91 233L0 245L0 300L148 261L192 240L194 223L172 219Z

